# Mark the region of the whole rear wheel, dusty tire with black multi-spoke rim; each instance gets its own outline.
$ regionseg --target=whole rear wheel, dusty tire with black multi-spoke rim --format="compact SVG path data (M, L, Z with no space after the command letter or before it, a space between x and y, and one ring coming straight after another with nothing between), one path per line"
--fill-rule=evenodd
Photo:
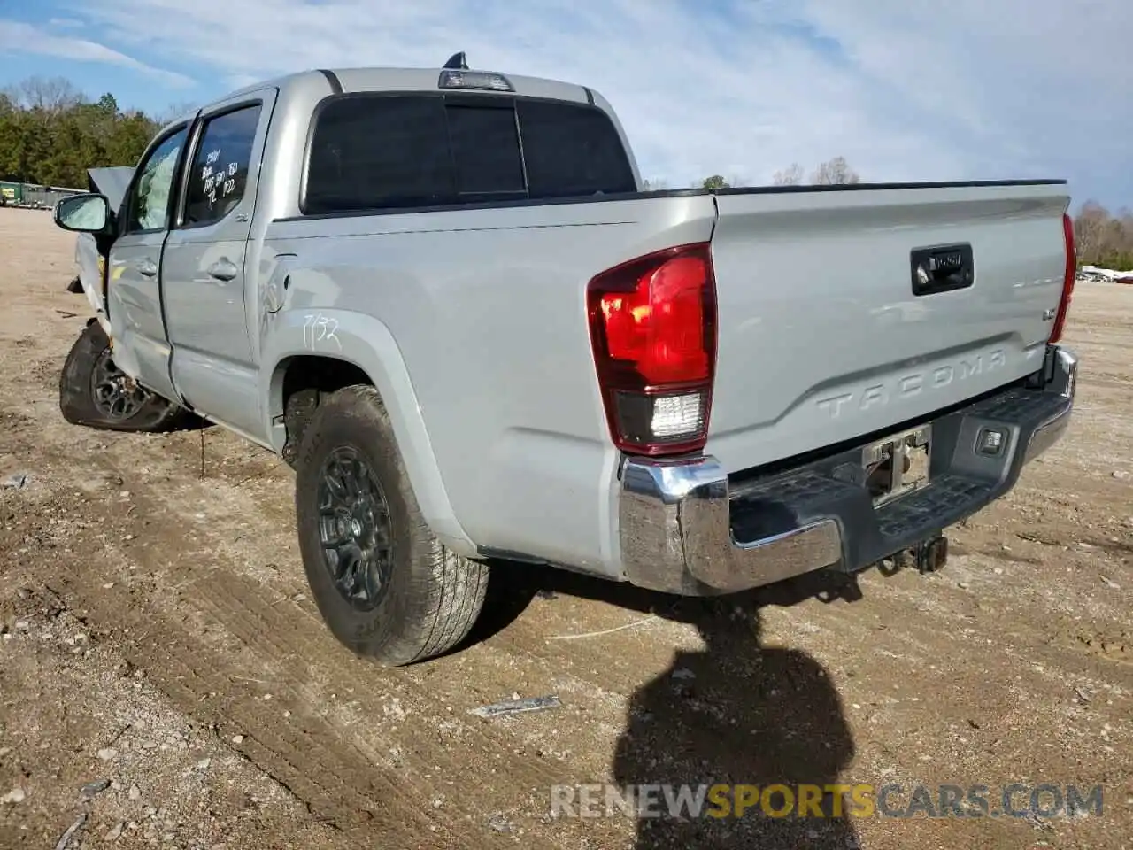
M315 604L350 649L392 666L468 635L488 568L433 536L374 388L347 386L315 409L296 459L296 515Z

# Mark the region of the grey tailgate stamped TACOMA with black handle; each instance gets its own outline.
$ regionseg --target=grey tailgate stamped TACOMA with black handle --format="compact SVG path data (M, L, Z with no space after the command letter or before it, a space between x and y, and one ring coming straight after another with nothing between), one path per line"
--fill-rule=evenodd
M1060 182L718 194L706 451L747 469L1038 369L1062 295L1068 202ZM940 291L918 294L930 256L940 277L919 283ZM970 263L968 286L948 275L957 260Z

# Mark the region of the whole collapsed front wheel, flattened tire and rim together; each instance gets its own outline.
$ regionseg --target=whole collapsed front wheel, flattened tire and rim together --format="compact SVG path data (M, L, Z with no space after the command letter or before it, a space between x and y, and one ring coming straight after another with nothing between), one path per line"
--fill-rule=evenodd
M73 425L105 431L168 431L188 411L126 375L110 339L92 322L75 340L59 377L59 410Z

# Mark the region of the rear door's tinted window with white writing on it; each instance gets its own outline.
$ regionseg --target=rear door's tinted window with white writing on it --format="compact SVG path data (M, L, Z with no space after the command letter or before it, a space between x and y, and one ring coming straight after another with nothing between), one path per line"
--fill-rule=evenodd
M205 121L193 158L185 223L220 221L244 197L261 105L244 107Z

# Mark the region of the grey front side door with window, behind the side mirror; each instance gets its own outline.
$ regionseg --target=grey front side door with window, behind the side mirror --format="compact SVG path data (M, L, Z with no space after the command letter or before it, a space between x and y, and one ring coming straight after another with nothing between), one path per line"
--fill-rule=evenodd
M162 248L187 138L188 125L172 128L143 156L119 211L107 270L114 360L126 374L172 401L178 396L162 318Z

